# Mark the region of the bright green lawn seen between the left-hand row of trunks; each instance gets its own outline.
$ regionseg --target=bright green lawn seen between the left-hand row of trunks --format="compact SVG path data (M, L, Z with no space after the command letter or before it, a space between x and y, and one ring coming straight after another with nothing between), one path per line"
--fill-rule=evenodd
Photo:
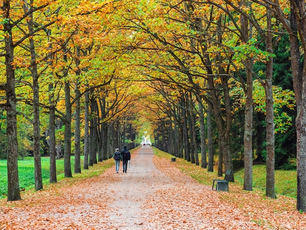
M43 187L49 184L49 157L42 157L42 178ZM84 156L81 156L81 168L83 169ZM81 174L73 174L75 178L99 176L106 168L113 165L113 161L104 161L102 167L89 166L89 170L82 170ZM0 160L0 199L7 194L7 166L6 160ZM74 170L74 156L71 156L71 171ZM26 157L18 161L18 174L20 188L26 190L34 188L34 160L33 157ZM57 181L64 178L64 159L56 160Z

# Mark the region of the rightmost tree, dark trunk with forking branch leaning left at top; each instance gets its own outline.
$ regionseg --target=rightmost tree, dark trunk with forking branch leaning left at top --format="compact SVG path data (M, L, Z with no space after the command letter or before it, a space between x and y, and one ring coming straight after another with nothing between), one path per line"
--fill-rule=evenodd
M269 2L275 16L284 24L289 33L291 68L293 88L297 105L296 131L297 131L297 209L306 211L306 28L305 28L305 2L303 0L290 1L290 15L283 11L280 2ZM275 4L274 4L275 3ZM285 7L289 7L286 6ZM298 36L299 35L299 36ZM301 65L299 38L302 42L304 61Z

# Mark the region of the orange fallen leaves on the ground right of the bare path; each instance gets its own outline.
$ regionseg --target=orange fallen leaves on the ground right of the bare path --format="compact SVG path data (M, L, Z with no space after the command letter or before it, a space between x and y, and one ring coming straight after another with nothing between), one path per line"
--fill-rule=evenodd
M181 173L173 162L155 156L153 162L173 179L172 183L178 184L175 188L158 191L159 194L148 199L145 205L152 206L159 216L167 216L165 225L169 227L206 230L306 229L306 215L295 210L296 200L292 198L281 196L279 199L267 199L238 187L233 187L229 192L217 192ZM151 217L150 221L158 221L156 215L151 213L151 216L155 217Z

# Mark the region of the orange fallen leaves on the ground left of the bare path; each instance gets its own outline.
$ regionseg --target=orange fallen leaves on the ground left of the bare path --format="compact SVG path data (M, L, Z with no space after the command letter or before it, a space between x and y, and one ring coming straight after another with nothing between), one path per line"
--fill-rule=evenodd
M52 188L26 192L23 200L0 201L1 230L96 230L112 229L108 223L111 196L109 184L120 181L107 169L99 177L75 184L65 179ZM103 193L97 189L103 188ZM115 229L115 228L114 228Z

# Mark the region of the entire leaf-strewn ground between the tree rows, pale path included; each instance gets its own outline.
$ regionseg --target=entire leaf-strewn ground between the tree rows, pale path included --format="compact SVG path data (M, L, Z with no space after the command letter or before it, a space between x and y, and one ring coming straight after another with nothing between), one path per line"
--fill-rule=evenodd
M58 184L10 205L1 201L0 229L306 230L306 214L287 208L292 199L261 197L255 204L252 194L217 192L150 146L133 151L127 173L121 163L119 173L113 166L99 177Z

